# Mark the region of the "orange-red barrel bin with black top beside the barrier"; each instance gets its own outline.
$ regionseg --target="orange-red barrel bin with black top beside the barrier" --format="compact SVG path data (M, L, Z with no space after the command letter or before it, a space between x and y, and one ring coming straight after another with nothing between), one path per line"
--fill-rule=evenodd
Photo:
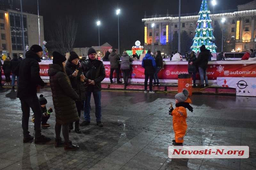
M179 74L178 75L178 93L183 89L188 90L188 96L192 96L192 74Z

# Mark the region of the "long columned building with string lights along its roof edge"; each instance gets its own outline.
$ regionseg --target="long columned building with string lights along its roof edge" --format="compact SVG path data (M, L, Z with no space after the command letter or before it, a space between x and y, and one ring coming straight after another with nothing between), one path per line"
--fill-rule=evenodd
M217 22L221 30L223 30L226 44L226 52L231 52L233 49L237 52L245 51L246 49L256 49L256 0L238 5L237 10L232 11L214 11L211 12L212 27L214 29ZM189 38L195 37L195 30L199 15L182 14L180 17L180 33L186 31ZM225 22L221 22L225 18ZM178 15L159 15L159 16L144 16L144 49L151 50L156 53L160 50L162 53L172 53L170 42L173 34L179 31L179 16ZM152 26L153 24L153 26ZM213 32L214 35L214 32ZM214 35L216 38L216 35ZM221 38L222 39L222 38ZM231 44L234 42L233 44ZM180 42L182 43L182 41ZM192 44L191 44L192 46ZM221 49L221 47L219 47ZM218 50L220 51L220 50ZM184 52L181 52L184 53Z

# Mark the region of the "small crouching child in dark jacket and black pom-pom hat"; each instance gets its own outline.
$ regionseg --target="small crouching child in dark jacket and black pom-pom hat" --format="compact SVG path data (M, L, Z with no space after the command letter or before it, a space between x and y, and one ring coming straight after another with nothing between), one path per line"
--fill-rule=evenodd
M39 102L40 102L40 105L41 105L41 110L42 110L42 123L41 125L42 126L50 126L50 124L47 124L47 121L48 119L50 118L51 116L51 113L52 113L52 108L50 108L49 110L47 110L46 108L46 104L47 104L47 100L46 98L44 97L44 95L40 95L39 96ZM34 115L32 116L32 122L34 123Z

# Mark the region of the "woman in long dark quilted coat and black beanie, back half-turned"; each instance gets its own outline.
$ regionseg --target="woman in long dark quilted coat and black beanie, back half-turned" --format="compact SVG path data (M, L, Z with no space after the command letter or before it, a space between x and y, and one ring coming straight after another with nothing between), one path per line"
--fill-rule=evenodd
M55 110L55 147L61 147L60 131L65 140L64 150L72 151L79 149L79 146L72 145L69 140L68 125L79 120L76 110L75 100L79 100L79 96L72 89L70 81L65 71L66 57L56 51L52 53L53 64L49 64L48 75L50 76L50 86L52 89L52 100Z

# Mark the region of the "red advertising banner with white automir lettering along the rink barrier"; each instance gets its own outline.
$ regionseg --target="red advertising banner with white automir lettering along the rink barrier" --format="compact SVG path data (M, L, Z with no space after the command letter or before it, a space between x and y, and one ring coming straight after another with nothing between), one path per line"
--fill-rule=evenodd
M109 81L110 62L104 61L106 70L106 78ZM42 61L39 63L40 75L43 79L49 79L48 68L52 61ZM123 77L120 71L121 78ZM178 74L188 74L188 61L164 61L164 69L158 73L160 82L178 82ZM4 73L2 72L2 75ZM114 72L114 78L116 73ZM132 70L130 72L131 82L144 82L144 68L141 61L132 62ZM209 83L216 82L217 77L256 77L256 61L255 60L225 60L225 61L209 61L207 68L207 76ZM4 76L3 76L4 78ZM196 80L200 80L199 73L196 74Z

